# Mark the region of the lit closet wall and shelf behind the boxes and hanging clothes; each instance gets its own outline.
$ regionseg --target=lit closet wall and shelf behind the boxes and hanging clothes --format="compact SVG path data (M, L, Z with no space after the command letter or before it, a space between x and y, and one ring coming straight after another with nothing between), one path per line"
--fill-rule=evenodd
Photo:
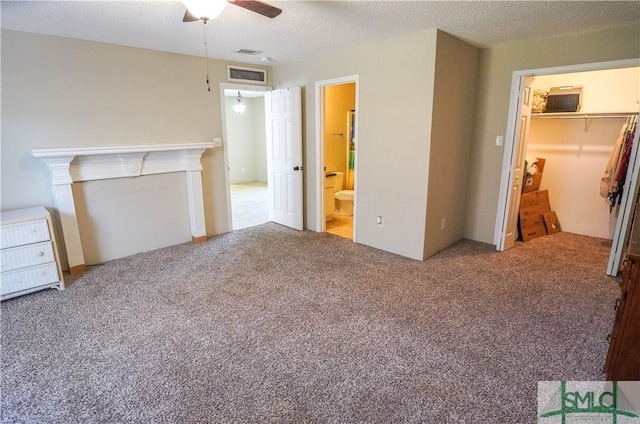
M640 68L536 77L533 90L575 87L577 112L533 113L526 157L544 158L540 190L548 190L562 231L611 240L616 219L600 181L620 130L637 115Z

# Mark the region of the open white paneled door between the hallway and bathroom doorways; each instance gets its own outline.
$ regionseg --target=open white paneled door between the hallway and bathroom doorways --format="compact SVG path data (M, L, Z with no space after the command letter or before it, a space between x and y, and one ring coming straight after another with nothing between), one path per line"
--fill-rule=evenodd
M300 87L265 94L269 220L302 230L302 102Z

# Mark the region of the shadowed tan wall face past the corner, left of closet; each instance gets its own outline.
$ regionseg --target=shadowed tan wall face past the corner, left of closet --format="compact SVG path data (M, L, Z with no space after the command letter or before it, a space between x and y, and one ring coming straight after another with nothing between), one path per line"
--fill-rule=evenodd
M438 32L424 258L463 236L478 55Z

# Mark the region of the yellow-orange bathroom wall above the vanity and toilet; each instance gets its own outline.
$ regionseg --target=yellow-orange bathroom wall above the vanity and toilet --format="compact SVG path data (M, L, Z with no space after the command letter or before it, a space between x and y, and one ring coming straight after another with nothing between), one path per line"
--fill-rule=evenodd
M347 113L356 107L355 83L324 89L324 166L327 171L347 172ZM335 135L335 134L342 134Z

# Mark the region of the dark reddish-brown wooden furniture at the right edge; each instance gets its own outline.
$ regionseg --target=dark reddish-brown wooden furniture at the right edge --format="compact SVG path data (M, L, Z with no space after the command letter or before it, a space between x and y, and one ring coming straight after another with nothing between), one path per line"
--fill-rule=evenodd
M640 380L640 255L628 254L604 373L610 381Z

